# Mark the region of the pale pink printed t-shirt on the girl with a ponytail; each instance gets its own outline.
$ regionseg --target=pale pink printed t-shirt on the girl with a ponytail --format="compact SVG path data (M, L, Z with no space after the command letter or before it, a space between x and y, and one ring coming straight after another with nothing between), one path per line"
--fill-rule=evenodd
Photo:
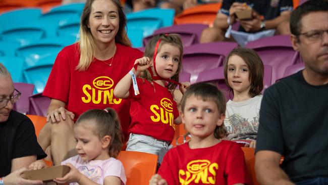
M107 176L119 177L122 185L127 180L122 162L113 157L106 160L83 161L80 156L76 155L63 161L62 165L66 163L71 163L80 173L98 184L103 184ZM70 183L70 185L77 184L77 182Z

